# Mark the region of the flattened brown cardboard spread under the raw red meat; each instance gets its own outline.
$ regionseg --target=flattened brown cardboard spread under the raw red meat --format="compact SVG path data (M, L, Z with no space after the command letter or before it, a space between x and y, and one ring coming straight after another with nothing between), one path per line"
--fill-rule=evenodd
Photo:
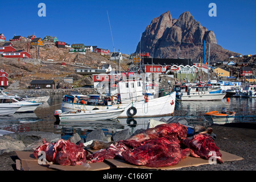
M93 152L93 151L91 151ZM230 154L225 151L221 151L222 160L224 162L230 162L234 160L243 160L240 156ZM24 152L24 151L16 151L20 162L16 162L17 169L22 168L24 171L49 171L49 170L61 170L61 171L101 171L110 168L140 168L140 169L160 169L160 170L172 170L172 169L179 169L183 167L191 167L191 166L200 166L204 164L209 164L208 160L201 159L201 158L193 158L188 157L182 159L178 164L175 166L169 167L159 167L159 168L152 168L146 166L135 166L125 162L124 160L118 159L105 159L104 162L100 163L89 163L90 168L86 168L83 166L60 166L58 164L52 165L39 165L38 159L34 158L32 152Z

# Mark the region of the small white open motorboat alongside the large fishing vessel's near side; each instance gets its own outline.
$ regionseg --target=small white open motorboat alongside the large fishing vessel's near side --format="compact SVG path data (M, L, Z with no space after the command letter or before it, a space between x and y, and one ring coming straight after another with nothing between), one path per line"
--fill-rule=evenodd
M125 109L104 109L104 110L77 110L62 113L61 110L55 110L56 119L60 121L97 121L115 119Z

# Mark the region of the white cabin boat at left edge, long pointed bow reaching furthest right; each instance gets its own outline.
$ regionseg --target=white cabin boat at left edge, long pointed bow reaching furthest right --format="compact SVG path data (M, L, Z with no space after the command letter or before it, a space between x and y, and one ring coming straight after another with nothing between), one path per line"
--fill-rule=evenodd
M19 105L20 108L16 111L16 113L25 113L33 112L42 103L25 101L23 98L18 96L0 95L0 104Z

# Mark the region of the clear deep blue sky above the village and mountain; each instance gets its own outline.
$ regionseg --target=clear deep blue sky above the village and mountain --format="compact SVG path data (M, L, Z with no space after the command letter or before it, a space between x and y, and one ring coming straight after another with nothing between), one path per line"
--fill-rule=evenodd
M209 3L216 3L217 16L210 17ZM39 17L39 3L46 4L46 17ZM230 51L256 54L255 0L9 0L1 2L0 33L9 40L15 35L57 36L60 41L84 43L122 53L133 53L146 26L170 11L179 18L184 11L208 30L217 44ZM108 14L112 29L110 32ZM4 18L3 18L4 17Z

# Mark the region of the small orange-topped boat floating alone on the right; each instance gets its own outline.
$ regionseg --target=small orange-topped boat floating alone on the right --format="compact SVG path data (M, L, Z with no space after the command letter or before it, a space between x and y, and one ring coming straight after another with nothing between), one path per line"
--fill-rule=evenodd
M225 123L232 123L234 122L234 118L236 116L236 112L234 111L226 111L226 108L223 107L221 113L218 111L210 111L208 113L204 113L205 115L209 115L212 118L214 124L223 125Z

